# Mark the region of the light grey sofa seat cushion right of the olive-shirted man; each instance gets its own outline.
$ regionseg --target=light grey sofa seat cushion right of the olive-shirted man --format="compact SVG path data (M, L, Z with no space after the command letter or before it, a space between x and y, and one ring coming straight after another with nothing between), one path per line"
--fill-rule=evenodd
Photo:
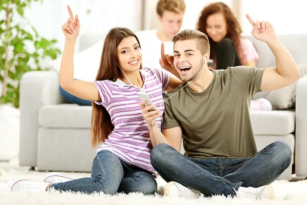
M251 111L251 122L255 135L287 135L294 132L295 112Z

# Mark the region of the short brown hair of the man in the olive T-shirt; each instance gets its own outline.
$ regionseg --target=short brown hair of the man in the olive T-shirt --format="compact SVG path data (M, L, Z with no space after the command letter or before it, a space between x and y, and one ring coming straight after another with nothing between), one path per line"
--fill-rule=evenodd
M173 37L172 42L175 45L175 43L178 40L193 40L193 39L196 39L198 41L197 45L202 55L210 53L209 38L206 34L200 32L199 30L185 29L177 33L176 36Z

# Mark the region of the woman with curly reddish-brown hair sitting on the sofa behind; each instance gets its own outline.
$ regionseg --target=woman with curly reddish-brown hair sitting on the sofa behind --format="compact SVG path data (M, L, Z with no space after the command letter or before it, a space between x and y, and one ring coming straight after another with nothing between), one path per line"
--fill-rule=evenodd
M217 2L206 6L197 29L208 35L214 69L256 65L259 55L252 42L240 36L242 29L226 4Z

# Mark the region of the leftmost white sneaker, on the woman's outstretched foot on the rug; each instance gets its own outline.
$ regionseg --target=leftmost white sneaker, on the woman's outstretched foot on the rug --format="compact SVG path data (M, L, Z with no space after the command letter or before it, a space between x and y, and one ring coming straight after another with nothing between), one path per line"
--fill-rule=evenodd
M46 191L49 183L41 181L32 181L28 179L15 180L10 183L12 192L17 191Z

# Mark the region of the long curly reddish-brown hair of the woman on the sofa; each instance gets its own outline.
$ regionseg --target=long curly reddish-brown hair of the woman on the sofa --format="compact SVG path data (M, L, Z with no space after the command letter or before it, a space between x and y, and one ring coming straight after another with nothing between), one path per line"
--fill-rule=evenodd
M224 15L226 19L226 24L227 24L227 34L225 37L228 37L232 40L239 57L241 57L243 55L242 49L240 46L240 34L242 33L242 29L240 27L238 20L234 16L232 10L226 4L222 2L217 2L217 3L213 3L213 4L206 6L203 9L201 16L199 18L199 22L196 26L197 29L205 33L206 35L208 35L206 31L207 18L208 16L215 14L215 13L222 13ZM215 61L216 60L215 48L216 48L217 43L214 42L212 38L210 38L209 35L208 35L208 38L209 38L209 44L210 44L210 49L211 49L210 58L212 58Z

